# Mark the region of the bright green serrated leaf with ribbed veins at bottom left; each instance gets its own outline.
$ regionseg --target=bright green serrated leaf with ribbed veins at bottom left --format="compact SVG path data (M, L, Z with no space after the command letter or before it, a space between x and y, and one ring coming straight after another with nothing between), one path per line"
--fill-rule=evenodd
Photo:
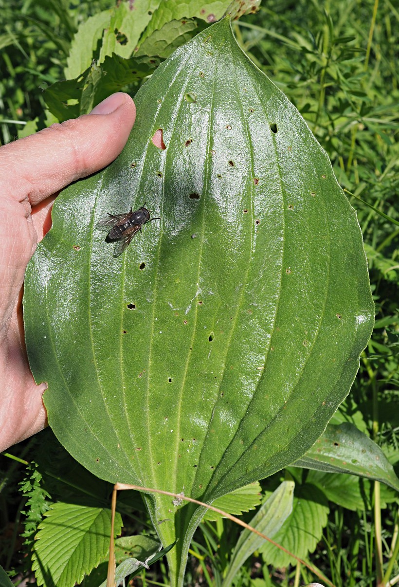
M58 502L45 516L32 554L36 581L46 587L73 587L109 551L111 510ZM121 525L116 513L115 534Z

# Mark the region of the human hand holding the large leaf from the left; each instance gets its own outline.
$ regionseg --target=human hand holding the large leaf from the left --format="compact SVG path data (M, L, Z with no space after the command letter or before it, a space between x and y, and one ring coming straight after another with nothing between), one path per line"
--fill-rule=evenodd
M36 385L25 350L26 265L51 226L58 192L111 163L135 118L133 100L119 92L86 116L0 147L0 451L46 425L46 384Z

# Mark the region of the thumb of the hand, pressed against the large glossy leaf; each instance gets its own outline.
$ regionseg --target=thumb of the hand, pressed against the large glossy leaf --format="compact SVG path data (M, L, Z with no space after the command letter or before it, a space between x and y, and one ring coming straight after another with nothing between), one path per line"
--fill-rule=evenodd
M53 124L0 149L0 193L31 205L116 158L136 117L131 97L118 92L86 116Z

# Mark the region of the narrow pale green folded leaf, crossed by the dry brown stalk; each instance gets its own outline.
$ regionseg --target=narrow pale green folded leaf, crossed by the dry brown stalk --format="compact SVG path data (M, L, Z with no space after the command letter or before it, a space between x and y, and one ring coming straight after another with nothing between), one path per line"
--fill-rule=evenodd
M295 483L293 481L283 481L263 503L259 511L256 512L249 525L265 534L268 538L273 538L292 512L294 487ZM244 565L246 559L264 542L263 538L247 529L241 532L229 561L223 587L231 585L236 573Z

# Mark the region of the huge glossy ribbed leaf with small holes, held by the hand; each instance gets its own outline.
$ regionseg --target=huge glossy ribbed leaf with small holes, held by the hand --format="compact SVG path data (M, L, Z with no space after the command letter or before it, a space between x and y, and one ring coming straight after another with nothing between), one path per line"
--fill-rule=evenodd
M57 198L29 264L29 360L90 471L211 502L323 433L373 325L366 258L326 153L227 19L136 104L121 155ZM144 202L161 220L113 258L96 223ZM163 544L180 538L172 584L204 513L180 502L147 497Z

